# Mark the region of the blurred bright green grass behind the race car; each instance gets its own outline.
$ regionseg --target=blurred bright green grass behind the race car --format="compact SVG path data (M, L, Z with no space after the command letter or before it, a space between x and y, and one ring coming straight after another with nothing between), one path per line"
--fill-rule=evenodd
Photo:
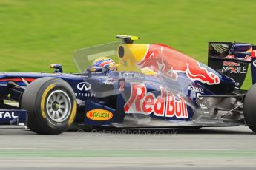
M76 72L73 51L139 35L206 64L209 41L256 44L254 0L0 0L0 71ZM244 88L250 86L247 78Z

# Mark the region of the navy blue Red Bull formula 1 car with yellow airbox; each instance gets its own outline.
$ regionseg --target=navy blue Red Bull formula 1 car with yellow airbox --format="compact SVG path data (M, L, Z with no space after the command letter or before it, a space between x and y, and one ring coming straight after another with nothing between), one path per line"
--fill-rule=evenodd
M206 66L164 44L116 38L122 43L76 50L80 73L65 74L61 64L50 65L52 74L1 73L0 123L48 135L73 122L117 128L247 125L256 132L256 85L240 89L249 63L256 82L254 45L210 42ZM117 61L117 69L92 66L100 57Z

